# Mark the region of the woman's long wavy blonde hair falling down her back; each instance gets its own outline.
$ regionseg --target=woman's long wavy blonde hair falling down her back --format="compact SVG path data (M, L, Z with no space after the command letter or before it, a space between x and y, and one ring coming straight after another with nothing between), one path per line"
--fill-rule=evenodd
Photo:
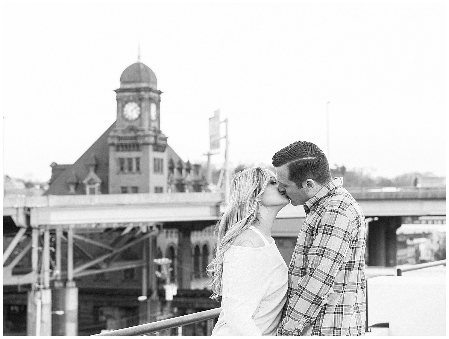
M238 172L229 187L229 201L225 213L216 225L217 248L215 258L207 266L211 277L211 299L222 294L223 258L239 234L259 220L259 198L270 181L264 166L247 168Z

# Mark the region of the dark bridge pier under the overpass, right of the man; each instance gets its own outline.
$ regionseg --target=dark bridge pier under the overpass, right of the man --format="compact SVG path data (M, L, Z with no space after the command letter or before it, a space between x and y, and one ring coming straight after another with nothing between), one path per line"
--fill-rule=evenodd
M383 216L368 227L369 266L396 266L396 229L401 227L400 216Z

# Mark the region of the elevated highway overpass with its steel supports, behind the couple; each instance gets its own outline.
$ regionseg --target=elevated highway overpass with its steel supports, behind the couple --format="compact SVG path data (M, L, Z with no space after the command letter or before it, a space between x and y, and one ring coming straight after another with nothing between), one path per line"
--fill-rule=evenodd
M360 203L365 216L371 220L367 246L370 265L394 266L396 264L396 229L401 226L402 217L446 215L445 189L403 188L388 191L371 188L350 189L350 192ZM223 196L220 193L50 195L5 198L3 203L4 236L8 233L15 234L15 236L10 237L12 240L4 251L4 285L33 285L39 282L43 289L33 293L41 293L42 303L47 300L47 304L42 304L42 316L43 319L51 318L50 281L54 281L55 286L56 283L61 284L62 274L50 277L50 232L59 239L59 242L56 242L56 266L53 269L61 271L61 239L65 239L67 242L67 269L63 275L67 279L66 287L54 290L53 294L58 300L72 300L75 298L74 295L76 298L78 296L74 282L74 278L77 276L93 274L102 270L111 271L145 265L143 260L132 263L106 264L104 260L110 257L114 258L119 251L128 248L129 244L112 248L107 244L83 238L79 233L87 229L103 231L124 229L121 233L124 237L126 234L130 234L131 230L137 230L134 233L134 238L131 239L131 244L148 240L146 248L152 253L149 256L152 258L151 255L155 257L155 234L157 234L159 226L163 225L163 228L179 230L178 258L182 260L185 257L187 261L186 264L180 265L178 283L181 289L189 288L191 268L187 263L190 263L192 253L190 232L215 224L222 211ZM297 237L304 219L303 207L286 206L277 216L273 237ZM66 237L63 232L66 232ZM31 235L31 241L17 250L16 247L27 235ZM90 261L73 267L73 248L76 246L74 239L90 241L91 244L104 247L110 252L100 258L91 256ZM41 253L39 253L40 242L43 245ZM57 245L58 243L59 245ZM14 251L15 249L16 251ZM12 269L29 251L31 251L31 272L13 275ZM39 260L42 260L43 263L40 272ZM146 261L146 265L149 262L152 262L151 259ZM92 269L97 264L100 264L101 269ZM151 268L151 264L149 267L150 274L148 281L145 280L145 284L151 286L151 276L154 277L151 272L154 271L154 267ZM75 290L76 293L73 292ZM144 287L142 287L142 291L144 291ZM35 309L37 306L33 300L37 299L29 298L28 305ZM48 300L50 300L50 304L48 304ZM77 304L75 299L71 302ZM61 308L64 307L70 307L70 305L61 306ZM32 321L32 317L29 321ZM70 321L72 322L70 323ZM73 328L73 319L70 320L70 317L67 317L65 322L64 326ZM43 322L41 326L42 333L51 333L51 323L50 330L48 330L48 323ZM46 329L45 326L47 326Z

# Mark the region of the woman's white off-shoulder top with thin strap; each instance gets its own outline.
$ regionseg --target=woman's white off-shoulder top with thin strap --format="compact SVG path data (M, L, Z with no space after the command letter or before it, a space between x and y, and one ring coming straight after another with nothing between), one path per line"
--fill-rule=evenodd
M224 255L223 295L212 335L276 335L286 302L288 269L276 244L254 227L264 247L232 245Z

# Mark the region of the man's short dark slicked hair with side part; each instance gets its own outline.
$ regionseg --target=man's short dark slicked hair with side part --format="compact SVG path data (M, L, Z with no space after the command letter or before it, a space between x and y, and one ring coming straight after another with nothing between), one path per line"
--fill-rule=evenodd
M295 141L273 155L273 166L287 164L289 178L299 188L303 188L306 179L312 179L321 185L332 180L326 155L310 141Z

